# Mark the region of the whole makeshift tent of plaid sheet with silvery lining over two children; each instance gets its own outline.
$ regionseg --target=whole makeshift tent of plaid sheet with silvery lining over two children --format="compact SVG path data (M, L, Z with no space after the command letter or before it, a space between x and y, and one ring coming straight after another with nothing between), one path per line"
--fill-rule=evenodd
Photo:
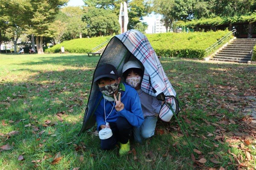
M160 110L159 117L161 120L169 122L173 113L177 114L179 112L178 101L175 98L176 92L166 77L154 49L144 34L137 30L129 30L114 36L102 53L96 69L103 64L112 64L117 68L121 76L123 65L129 60L140 61L142 68L144 68L141 90L159 100L165 101ZM96 122L94 112L100 102L95 101L98 91L98 85L92 83L91 93L85 110L84 123L79 136Z

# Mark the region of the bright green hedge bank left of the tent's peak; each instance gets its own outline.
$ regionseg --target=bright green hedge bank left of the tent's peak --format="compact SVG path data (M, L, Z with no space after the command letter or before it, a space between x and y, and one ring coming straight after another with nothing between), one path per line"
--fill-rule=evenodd
M92 37L92 38L79 38L70 41L63 41L51 48L45 50L48 53L58 53L60 52L61 46L64 46L65 51L70 53L88 53L92 52L92 48L98 46L102 42L108 40L112 36L105 37Z

